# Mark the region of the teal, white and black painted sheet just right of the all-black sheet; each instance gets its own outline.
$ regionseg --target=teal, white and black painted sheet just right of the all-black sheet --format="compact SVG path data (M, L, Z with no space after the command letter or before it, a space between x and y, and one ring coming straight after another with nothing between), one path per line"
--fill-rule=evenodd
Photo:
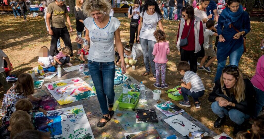
M166 116L173 116L176 115L178 113L182 113L185 112L183 109L181 109L180 107L176 106L175 104L173 104L171 101L167 101L164 103L160 103L157 105L154 105L159 111L161 111L163 114L165 114Z

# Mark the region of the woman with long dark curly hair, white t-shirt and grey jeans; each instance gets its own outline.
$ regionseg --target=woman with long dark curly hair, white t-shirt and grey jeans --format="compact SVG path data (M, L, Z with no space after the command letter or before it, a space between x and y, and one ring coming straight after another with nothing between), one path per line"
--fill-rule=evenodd
M154 55L152 54L154 44L156 43L156 39L154 37L154 32L156 30L157 24L159 25L159 29L163 30L163 26L161 23L162 13L159 9L158 3L155 0L145 1L143 5L143 11L140 13L140 23L138 26L138 34L137 42L140 41L143 50L144 63L146 72L142 73L142 76L149 75L150 68L149 62L152 69L152 73L154 75L154 80L156 79L156 70L155 70L155 62ZM142 24L142 28L141 28Z

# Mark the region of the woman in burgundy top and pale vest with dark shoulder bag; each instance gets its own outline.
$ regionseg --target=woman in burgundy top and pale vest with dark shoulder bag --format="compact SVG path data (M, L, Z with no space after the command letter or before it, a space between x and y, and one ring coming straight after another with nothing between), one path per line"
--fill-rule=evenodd
M181 61L190 61L191 71L196 73L197 56L195 54L201 50L201 45L204 42L201 18L194 16L194 8L189 5L182 8L182 17L177 35L177 48L181 53ZM188 44L180 47L180 40L187 36Z

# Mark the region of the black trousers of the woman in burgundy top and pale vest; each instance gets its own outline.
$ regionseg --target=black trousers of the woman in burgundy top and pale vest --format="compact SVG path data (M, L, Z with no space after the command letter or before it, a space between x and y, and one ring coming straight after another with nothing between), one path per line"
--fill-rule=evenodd
M197 56L193 51L187 51L187 50L183 50L180 49L180 53L181 53L181 61L190 61L190 68L191 71L193 71L194 73L196 73L197 71Z

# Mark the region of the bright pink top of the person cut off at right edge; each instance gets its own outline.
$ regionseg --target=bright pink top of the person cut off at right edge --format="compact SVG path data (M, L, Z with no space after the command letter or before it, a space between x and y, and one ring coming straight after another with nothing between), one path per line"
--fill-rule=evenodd
M258 59L256 73L251 78L251 83L254 87L264 91L264 55Z

